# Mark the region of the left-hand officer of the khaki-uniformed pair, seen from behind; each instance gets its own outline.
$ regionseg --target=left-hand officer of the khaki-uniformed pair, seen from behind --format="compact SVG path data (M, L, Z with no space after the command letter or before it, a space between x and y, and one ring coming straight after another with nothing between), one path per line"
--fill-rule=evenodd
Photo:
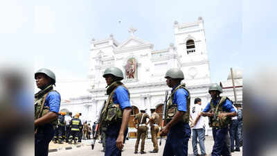
M136 116L133 119L133 123L136 125L137 134L138 134L138 137L136 138L136 145L134 146L135 154L138 153L140 139L141 139L141 154L145 153L144 143L145 143L146 131L148 130L146 119L149 119L149 118L150 116L147 113L145 113L145 110L141 110L141 112L139 114L136 114Z

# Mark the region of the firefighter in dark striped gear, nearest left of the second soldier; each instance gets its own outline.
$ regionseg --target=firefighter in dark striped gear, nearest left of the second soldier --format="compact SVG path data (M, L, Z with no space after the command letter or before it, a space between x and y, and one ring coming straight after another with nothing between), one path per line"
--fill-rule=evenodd
M79 119L80 114L77 113L73 119L71 119L71 122L69 124L69 127L71 128L71 135L69 137L69 144L72 144L72 141L74 140L74 144L77 144L79 133L82 132L82 121Z

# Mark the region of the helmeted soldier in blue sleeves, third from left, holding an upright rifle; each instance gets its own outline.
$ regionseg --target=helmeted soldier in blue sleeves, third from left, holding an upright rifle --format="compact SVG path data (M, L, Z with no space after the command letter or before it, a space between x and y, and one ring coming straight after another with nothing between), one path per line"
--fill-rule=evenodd
M186 89L184 73L180 69L166 71L166 85L172 88L166 107L166 126L161 136L167 135L163 156L188 155L188 139L190 139L190 92Z

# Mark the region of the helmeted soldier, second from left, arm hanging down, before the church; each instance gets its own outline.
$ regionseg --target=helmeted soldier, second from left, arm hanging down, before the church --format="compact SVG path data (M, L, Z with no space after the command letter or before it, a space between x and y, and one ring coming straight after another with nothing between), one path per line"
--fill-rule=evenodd
M107 102L101 112L100 127L107 128L105 132L105 156L121 155L124 135L127 130L131 104L129 90L120 82L123 72L117 67L105 69L103 77L107 83Z

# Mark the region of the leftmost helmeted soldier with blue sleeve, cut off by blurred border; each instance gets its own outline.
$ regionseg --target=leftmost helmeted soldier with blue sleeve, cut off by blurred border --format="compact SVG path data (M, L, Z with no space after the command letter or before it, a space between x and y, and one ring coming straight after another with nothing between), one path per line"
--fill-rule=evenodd
M35 94L35 155L48 155L48 144L54 136L54 126L60 110L60 94L53 90L55 73L39 69L35 82L41 89Z

